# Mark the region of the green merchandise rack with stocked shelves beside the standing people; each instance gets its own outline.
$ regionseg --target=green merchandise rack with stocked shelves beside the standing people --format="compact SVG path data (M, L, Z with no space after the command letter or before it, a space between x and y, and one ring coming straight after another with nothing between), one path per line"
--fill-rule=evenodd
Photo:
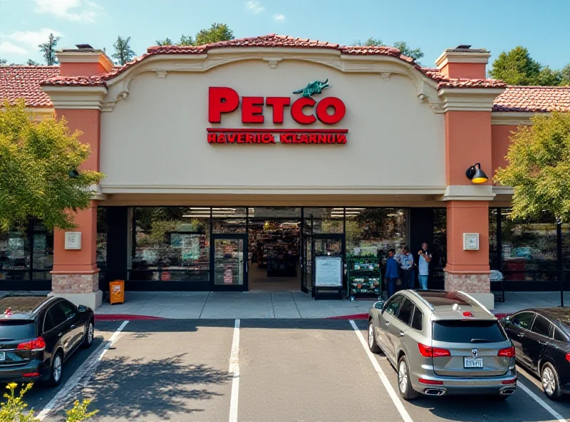
M375 256L348 257L347 297L351 300L359 297L380 298L382 295L382 277L380 258Z

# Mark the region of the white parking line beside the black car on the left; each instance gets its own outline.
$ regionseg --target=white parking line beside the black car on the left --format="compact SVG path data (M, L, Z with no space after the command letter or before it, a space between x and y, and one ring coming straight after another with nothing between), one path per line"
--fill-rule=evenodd
M123 324L121 324L117 331L113 333L113 336L111 336L108 341L104 341L100 344L99 347L89 355L86 361L79 366L77 371L75 371L66 384L63 385L63 388L61 388L56 396L54 396L46 407L43 408L43 411L36 416L38 421L43 421L43 419L45 419L54 408L58 407L61 403L64 403L76 388L84 388L87 386L91 376L93 376L95 371L97 371L97 367L99 366L101 359L103 359L105 353L110 349L110 346L113 346L113 343L119 339L120 332L123 331L127 324L128 321L123 321Z

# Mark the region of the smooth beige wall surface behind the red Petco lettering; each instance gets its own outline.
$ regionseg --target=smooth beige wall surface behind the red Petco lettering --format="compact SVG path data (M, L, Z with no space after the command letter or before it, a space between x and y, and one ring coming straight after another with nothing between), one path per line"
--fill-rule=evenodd
M291 91L326 78L331 88L321 96L336 96L346 104L346 116L336 125L348 128L346 145L207 143L209 86L228 86L240 96L291 96L294 101ZM271 69L256 60L206 72L168 71L162 78L144 72L128 91L128 98L101 118L103 192L254 193L264 187L265 192L331 194L358 187L375 194L400 187L445 187L443 115L420 102L408 76L392 73L386 79L292 60ZM110 86L108 101L117 92ZM239 110L223 115L218 126L242 127ZM271 108L264 114L264 127L273 127ZM300 128L288 108L283 127Z

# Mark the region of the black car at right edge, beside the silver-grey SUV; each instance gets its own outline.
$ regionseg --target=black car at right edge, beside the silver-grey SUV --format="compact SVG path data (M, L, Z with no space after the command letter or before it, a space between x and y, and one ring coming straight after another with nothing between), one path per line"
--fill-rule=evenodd
M546 396L570 393L570 309L524 309L501 322L517 363L540 377Z

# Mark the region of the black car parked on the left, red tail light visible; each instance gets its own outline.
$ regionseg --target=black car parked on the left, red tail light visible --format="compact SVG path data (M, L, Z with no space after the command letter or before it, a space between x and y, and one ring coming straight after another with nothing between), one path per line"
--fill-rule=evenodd
M0 296L0 383L61 383L65 362L93 342L93 311L58 297Z

